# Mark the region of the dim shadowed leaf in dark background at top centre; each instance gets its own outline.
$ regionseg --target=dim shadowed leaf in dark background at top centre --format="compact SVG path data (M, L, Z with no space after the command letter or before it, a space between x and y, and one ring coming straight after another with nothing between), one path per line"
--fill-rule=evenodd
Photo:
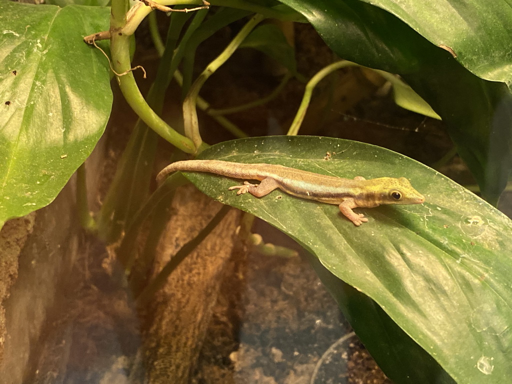
M255 28L239 48L257 49L279 62L292 74L297 74L295 51L288 44L283 31L274 24L264 24Z

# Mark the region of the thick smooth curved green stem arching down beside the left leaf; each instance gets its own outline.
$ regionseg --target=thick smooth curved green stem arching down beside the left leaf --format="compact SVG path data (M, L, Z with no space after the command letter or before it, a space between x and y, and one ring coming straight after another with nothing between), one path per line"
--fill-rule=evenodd
M117 73L124 73L131 68L130 63L130 36L122 33L113 33L111 37L111 53L114 70ZM132 72L127 72L122 76L117 76L119 88L130 104L135 113L151 129L162 136L169 143L173 144L185 153L194 153L196 148L194 143L173 130L165 121L163 121L144 100L144 97L137 87Z

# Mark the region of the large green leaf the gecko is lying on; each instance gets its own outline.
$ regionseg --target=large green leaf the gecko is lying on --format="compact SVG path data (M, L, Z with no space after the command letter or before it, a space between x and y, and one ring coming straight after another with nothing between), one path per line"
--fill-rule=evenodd
M331 160L324 159L327 152ZM261 199L237 196L228 187L239 181L185 174L208 196L281 229L371 297L457 382L502 384L512 377L512 222L498 210L433 169L355 141L241 139L201 157L345 178L406 176L424 204L358 209L370 221L354 227L335 205L280 190Z

